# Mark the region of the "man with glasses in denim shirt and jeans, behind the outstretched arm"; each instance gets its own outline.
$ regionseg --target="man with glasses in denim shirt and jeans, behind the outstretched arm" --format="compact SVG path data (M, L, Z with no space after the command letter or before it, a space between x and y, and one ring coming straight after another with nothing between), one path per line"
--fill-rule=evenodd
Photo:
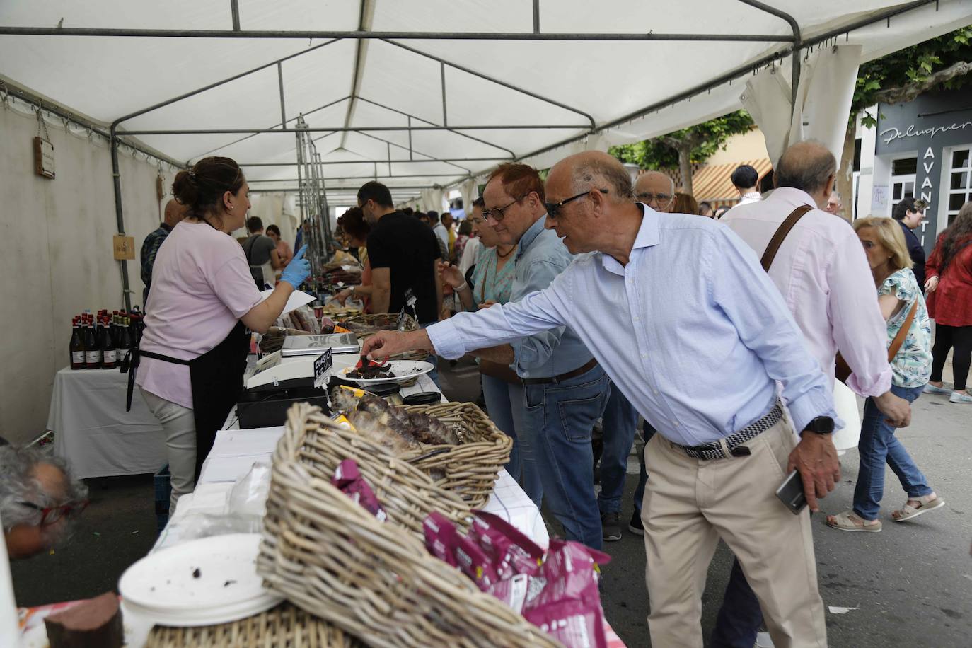
M501 165L486 184L483 218L500 242L517 245L510 300L541 290L573 255L546 229L543 182L526 164ZM567 538L601 548L601 516L594 495L591 429L608 402L608 377L570 328L558 326L511 344L480 349L480 358L509 364L524 383L524 452L533 453L541 495Z

